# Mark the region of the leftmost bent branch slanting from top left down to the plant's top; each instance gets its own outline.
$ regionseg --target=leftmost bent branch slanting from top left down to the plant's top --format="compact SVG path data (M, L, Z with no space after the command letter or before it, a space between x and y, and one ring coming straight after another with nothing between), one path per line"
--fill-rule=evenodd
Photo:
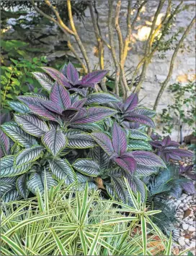
M32 6L35 8L35 10L40 13L41 15L43 15L43 17L45 17L46 19L54 22L56 25L58 25L58 27L63 31L63 33L66 35L67 37L67 44L68 44L68 48L69 50L74 54L74 56L76 57L76 59L79 61L79 63L81 64L81 67L84 69L84 72L87 73L87 69L84 65L84 63L82 62L81 58L79 57L78 54L76 54L76 50L74 49L74 47L72 46L71 44L71 40L70 40L70 37L69 37L69 34L67 32L67 30L62 27L59 22L57 20L55 20L53 17L51 17L50 15L48 14L45 14L45 12L43 12L41 9L39 9L36 5L35 5L35 1L32 0Z

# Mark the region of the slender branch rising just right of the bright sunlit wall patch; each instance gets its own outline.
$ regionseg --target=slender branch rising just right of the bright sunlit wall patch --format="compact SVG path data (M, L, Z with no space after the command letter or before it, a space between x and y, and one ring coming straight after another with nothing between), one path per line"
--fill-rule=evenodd
M165 0L160 0L159 1L159 6L158 6L158 8L156 10L156 13L154 15L153 24L151 26L151 32L150 32L150 35L148 36L148 40L146 41L146 48L145 48L145 53L144 53L145 56L149 55L149 51L151 49L151 38L153 36L153 30L154 30L154 27L156 26L157 17L159 15L159 13L161 12L161 9L164 5L164 1ZM143 63L143 69L142 69L142 72L141 72L141 77L139 79L138 85L135 88L135 93L139 93L139 91L141 90L141 85L143 83L143 80L145 79L147 67L148 67L148 57L146 58L146 60Z

